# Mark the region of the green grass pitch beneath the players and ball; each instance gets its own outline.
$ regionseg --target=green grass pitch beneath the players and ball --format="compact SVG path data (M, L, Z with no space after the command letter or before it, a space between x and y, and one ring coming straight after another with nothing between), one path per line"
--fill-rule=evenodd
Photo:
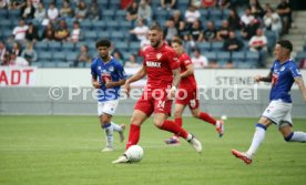
M114 116L129 124L130 117ZM231 154L246 150L257 119L228 119L218 138L214 126L184 117L184 127L203 144L197 154L185 141L166 146L170 133L147 120L141 132L144 158L135 164L111 164L115 152L105 145L95 116L0 116L0 185L304 185L306 146L284 142L276 126L269 127L252 165ZM295 130L306 131L306 120L294 120ZM129 129L125 132L128 137Z

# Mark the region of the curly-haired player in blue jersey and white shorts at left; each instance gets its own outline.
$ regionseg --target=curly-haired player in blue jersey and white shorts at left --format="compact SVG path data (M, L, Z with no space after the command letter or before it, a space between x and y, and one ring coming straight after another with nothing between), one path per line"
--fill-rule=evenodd
M111 152L113 147L113 131L119 132L123 142L125 125L113 123L112 116L119 104L120 86L125 83L126 74L121 63L110 55L111 42L100 40L95 43L99 56L91 63L92 85L98 89L98 115L101 127L106 134L106 147L102 152Z

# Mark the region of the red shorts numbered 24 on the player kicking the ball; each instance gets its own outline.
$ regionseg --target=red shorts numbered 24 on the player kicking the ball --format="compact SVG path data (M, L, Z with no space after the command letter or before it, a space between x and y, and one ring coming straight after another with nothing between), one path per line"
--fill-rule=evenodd
M154 113L165 113L171 115L172 100L167 100L166 93L164 95L154 94L152 92L144 92L135 104L134 110L144 112L147 116Z

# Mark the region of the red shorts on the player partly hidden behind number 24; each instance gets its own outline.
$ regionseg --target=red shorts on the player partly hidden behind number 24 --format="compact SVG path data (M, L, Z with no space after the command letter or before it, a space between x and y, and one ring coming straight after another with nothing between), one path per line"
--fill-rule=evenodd
M180 89L175 97L175 104L188 105L191 110L198 109L197 91L183 91L183 89Z

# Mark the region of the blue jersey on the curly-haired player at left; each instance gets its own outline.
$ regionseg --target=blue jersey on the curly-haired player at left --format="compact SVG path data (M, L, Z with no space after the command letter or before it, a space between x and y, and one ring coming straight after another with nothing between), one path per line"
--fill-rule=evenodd
M91 74L94 78L96 76L101 84L101 89L98 93L99 102L119 99L120 86L114 86L111 89L105 88L106 81L118 82L128 78L123 66L118 60L111 58L109 62L104 63L101 58L93 59L91 63Z

